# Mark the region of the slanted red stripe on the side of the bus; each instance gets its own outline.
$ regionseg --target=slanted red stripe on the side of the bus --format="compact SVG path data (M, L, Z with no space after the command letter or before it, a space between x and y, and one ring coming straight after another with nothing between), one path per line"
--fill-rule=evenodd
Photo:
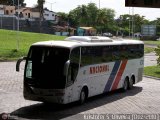
M114 83L113 83L113 86L112 86L112 89L111 89L111 90L117 89L118 84L119 84L119 81L121 80L122 74L123 74L123 72L124 72L124 69L126 68L127 61L128 61L128 60L123 60L123 61L122 61L121 67L120 67L120 69L119 69L119 71L118 71L118 73L117 73L117 76L116 76L116 78L115 78L115 81L114 81Z

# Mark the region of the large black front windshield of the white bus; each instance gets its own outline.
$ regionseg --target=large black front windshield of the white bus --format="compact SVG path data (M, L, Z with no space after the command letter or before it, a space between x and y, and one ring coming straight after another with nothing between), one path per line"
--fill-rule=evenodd
M69 59L69 53L67 48L32 46L26 62L27 82L43 89L64 88L64 65Z

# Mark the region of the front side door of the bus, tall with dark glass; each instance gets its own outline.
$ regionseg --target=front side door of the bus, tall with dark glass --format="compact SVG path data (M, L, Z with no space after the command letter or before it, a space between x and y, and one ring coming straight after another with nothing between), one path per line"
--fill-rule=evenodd
M80 47L74 48L70 54L70 64L68 67L68 75L67 75L68 102L73 101L75 95L77 94L76 81L79 70L79 62L80 62Z

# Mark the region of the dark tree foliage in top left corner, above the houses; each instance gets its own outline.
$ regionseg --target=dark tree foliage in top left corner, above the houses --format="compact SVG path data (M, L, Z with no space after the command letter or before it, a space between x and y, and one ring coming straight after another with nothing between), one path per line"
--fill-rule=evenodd
M18 0L1 0L0 4L18 6ZM19 0L19 6L26 6L24 0Z

